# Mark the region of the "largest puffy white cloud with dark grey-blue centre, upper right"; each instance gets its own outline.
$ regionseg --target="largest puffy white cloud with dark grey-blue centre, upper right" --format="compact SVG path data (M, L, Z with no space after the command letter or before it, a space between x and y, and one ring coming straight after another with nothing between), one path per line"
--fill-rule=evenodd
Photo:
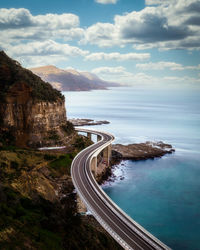
M200 49L200 3L197 0L147 0L140 11L116 15L113 23L96 23L81 42L100 47Z

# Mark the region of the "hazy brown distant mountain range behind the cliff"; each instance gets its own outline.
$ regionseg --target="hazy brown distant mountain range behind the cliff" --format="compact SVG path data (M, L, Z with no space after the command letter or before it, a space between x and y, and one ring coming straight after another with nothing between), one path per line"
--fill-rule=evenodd
M63 70L53 65L30 68L30 70L61 91L88 91L120 86L117 83L104 81L89 72L78 72L74 69Z

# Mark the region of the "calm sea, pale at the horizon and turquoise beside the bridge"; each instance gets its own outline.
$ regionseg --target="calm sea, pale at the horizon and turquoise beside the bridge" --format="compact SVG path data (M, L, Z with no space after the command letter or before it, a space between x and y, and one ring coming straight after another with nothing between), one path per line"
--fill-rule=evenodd
M162 140L172 155L124 161L104 191L127 214L173 249L200 249L200 92L112 88L65 92L69 118L108 120L116 143ZM90 127L91 128L91 127Z

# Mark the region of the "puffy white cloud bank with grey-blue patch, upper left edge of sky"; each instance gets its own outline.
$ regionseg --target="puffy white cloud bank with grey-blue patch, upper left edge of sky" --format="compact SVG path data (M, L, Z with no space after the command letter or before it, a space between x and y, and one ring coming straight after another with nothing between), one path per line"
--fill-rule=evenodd
M0 9L1 41L45 40L62 38L65 41L81 39L84 30L79 17L71 13L33 16L29 10Z

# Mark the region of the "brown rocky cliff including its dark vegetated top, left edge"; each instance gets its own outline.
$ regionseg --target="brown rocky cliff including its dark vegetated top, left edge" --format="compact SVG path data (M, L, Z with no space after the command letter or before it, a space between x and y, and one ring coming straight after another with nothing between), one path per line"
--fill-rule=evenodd
M0 142L21 147L63 145L73 134L64 96L0 52Z

